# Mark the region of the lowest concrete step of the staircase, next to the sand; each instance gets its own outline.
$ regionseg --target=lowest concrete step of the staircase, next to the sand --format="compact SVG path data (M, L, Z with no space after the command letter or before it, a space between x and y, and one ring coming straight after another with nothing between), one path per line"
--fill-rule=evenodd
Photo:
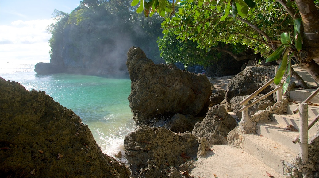
M256 135L244 136L244 151L282 175L284 175L284 163L297 156L271 139Z

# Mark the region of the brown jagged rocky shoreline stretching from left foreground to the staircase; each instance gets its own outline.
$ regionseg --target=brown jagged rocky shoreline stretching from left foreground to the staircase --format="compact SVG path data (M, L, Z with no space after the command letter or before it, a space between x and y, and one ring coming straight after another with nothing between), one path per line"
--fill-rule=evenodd
M116 156L125 157L128 165L101 152L80 117L45 92L0 78L0 176L192 177L195 160L211 155L212 145L240 147L243 130L228 112L272 78L274 70L246 67L224 91L204 75L154 64L140 48L130 48L126 64L137 129L124 139L125 154ZM249 114L276 108L269 107L274 98Z

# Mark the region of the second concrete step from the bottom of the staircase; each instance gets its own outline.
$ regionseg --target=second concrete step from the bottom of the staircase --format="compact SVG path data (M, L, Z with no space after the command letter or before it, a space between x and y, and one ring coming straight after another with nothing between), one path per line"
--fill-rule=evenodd
M294 144L292 141L298 137L298 131L286 130L287 127L275 122L261 123L259 125L258 135L271 139L286 147L289 151L299 154L299 143Z

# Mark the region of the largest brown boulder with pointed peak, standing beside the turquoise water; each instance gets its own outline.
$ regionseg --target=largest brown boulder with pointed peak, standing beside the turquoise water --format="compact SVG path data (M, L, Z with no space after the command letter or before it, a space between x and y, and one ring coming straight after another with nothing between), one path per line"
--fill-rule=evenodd
M208 111L211 83L196 75L165 64L154 64L140 48L128 51L126 62L131 93L130 108L137 124L150 124L173 115L204 115Z

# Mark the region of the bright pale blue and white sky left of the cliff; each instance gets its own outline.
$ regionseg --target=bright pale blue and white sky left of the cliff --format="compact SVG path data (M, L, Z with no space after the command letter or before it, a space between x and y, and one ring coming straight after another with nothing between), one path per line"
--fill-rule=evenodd
M50 62L45 31L53 11L70 13L80 0L0 0L0 63Z

